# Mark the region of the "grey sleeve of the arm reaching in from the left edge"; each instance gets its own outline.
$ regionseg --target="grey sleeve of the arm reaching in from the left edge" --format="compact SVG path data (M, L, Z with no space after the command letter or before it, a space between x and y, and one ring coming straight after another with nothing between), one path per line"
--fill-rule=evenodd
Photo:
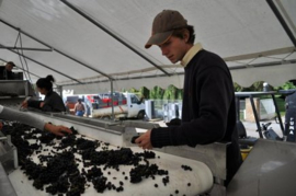
M1 108L2 107L2 108ZM41 130L44 129L45 123L30 114L25 114L23 112L14 111L8 107L3 107L0 105L0 118L8 120L18 120L25 125L30 125L32 127L36 127Z

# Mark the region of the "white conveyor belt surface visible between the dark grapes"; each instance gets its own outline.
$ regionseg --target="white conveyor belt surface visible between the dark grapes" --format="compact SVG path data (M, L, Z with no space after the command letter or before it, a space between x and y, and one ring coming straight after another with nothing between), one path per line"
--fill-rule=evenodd
M79 138L80 136L78 136ZM90 139L90 138L88 138ZM35 142L34 139L30 140L31 142ZM59 141L55 141L59 142ZM101 146L102 150L104 146ZM48 154L53 150L53 147L44 146L43 149L48 149L48 151L43 151L43 154ZM115 146L109 146L109 149L118 149ZM130 148L133 152L143 152L143 150L138 147ZM119 181L124 183L124 192L117 193L116 191L105 191L104 195L174 195L175 192L179 192L179 195L197 195L208 191L213 186L213 175L210 170L202 162L184 159L162 152L155 152L156 159L149 159L149 163L156 163L159 169L169 171L170 182L164 186L162 183L163 176L156 175L155 180L151 177L144 178L138 184L133 184L129 181L126 181L124 177L128 176L130 169L133 165L121 165L119 171L114 169L107 169L102 171L104 176L107 177L107 181L112 182L115 185L119 184ZM34 153L32 159L34 162L38 163L38 154ZM76 154L78 159L81 159L80 154ZM78 162L79 169L82 169L82 163ZM182 165L187 165L192 169L192 171L185 171L182 169ZM87 170L87 169L86 169ZM111 172L111 174L109 174ZM125 172L125 175L123 175ZM18 169L9 175L10 181L15 188L15 192L19 196L43 196L48 195L45 192L37 191L32 186L33 181L29 181L27 176L23 174L23 172ZM189 186L189 183L191 185ZM83 195L95 195L96 191L93 188L92 183L88 183L91 186L86 189ZM156 187L156 184L158 187Z

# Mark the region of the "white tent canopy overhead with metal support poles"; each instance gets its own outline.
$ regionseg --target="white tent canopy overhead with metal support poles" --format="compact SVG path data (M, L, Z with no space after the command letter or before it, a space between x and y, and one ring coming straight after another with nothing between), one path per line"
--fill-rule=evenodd
M227 61L235 82L296 79L295 0L0 0L0 60L79 93L110 90L111 80L115 90L182 88L183 68L144 48L164 9L195 26L196 42Z

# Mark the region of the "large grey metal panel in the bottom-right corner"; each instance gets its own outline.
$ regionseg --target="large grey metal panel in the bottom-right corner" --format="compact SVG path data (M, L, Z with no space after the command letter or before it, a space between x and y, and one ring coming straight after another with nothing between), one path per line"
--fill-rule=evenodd
M228 196L295 196L296 143L259 139L227 188Z

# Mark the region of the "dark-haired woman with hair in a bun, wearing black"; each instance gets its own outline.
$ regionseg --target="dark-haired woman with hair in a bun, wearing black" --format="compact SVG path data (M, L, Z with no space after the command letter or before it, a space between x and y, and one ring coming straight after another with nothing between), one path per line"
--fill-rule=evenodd
M43 112L66 112L62 99L53 91L53 82L55 82L55 79L50 74L38 79L36 85L39 93L45 95L44 101L30 99L22 103L22 107L38 108Z

